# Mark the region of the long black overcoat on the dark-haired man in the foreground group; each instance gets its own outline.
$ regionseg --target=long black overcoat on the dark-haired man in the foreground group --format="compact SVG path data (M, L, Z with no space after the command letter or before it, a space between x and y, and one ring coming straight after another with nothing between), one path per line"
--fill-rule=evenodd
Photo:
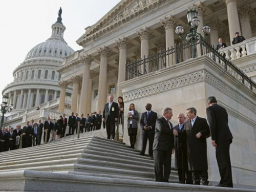
M187 160L188 170L207 170L207 143L206 138L210 136L210 129L206 119L198 117L191 126L191 121L185 122L187 136ZM196 135L201 133L198 139Z

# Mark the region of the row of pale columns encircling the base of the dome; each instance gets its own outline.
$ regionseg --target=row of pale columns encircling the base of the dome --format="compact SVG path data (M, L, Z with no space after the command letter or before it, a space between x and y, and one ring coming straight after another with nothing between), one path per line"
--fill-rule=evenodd
M25 90L22 89L20 90L20 93L18 93L18 91L15 90L13 91L13 97L12 97L12 92L9 92L8 106L10 104L13 104L14 109L29 109L33 105L33 98L35 94L36 94L35 106L37 106L40 104L40 95L41 95L40 91L42 90L43 89L37 89L36 93L32 92L31 89L28 89L28 92L25 92ZM46 89L45 100L44 100L45 103L48 101L48 93L49 93L49 89ZM54 90L53 99L56 99L56 98L57 98L57 90Z

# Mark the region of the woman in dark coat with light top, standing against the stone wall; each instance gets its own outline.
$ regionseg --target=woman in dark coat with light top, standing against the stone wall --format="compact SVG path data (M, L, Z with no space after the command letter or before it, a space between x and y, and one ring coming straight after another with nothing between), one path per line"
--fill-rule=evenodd
M135 110L134 103L130 104L129 113L127 115L128 135L130 136L131 148L135 148L136 136L138 131L139 113Z

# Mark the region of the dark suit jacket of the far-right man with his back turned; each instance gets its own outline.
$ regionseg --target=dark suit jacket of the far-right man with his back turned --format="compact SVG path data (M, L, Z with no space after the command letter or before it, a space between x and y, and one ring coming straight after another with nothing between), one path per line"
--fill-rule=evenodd
M206 109L207 120L210 126L211 140L216 143L231 140L233 138L228 127L227 111L220 105L212 104Z

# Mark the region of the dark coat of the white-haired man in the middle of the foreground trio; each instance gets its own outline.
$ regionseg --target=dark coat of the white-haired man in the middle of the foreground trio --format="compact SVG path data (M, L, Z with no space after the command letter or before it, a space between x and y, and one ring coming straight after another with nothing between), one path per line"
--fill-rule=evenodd
M174 130L178 132L178 136L174 136L174 149L175 149L175 168L187 169L187 136L185 131L185 123L179 130L179 124L174 126Z

